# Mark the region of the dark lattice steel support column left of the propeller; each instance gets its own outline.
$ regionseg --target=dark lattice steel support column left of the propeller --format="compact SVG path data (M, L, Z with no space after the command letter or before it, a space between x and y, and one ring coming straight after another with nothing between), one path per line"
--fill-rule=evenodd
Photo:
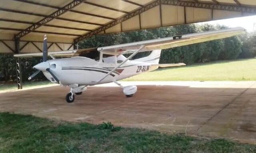
M15 53L20 53L20 39L15 39ZM20 58L16 57L16 77L18 89L22 89L22 69L20 65Z

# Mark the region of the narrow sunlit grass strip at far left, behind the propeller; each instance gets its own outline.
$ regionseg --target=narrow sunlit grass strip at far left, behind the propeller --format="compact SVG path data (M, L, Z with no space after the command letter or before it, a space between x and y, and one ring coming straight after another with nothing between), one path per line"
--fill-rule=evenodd
M23 82L23 88L30 88L32 86L42 86L52 84L50 81L26 81ZM17 83L16 82L0 82L0 91L4 90L15 90L17 89Z

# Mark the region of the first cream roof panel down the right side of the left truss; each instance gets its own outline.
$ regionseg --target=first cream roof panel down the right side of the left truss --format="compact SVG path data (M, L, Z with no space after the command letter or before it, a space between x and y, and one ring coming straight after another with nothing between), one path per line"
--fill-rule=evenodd
M96 15L100 15L100 16L107 16L107 17L110 17L110 18L118 18L118 17L123 16L125 14L125 13L122 13L122 12L116 12L116 11L113 11L113 10L100 8L100 7L97 7L97 6L90 5L90 4L80 4L79 6L74 8L73 10L82 11L82 12L86 12L86 13L90 13L90 14L96 14Z

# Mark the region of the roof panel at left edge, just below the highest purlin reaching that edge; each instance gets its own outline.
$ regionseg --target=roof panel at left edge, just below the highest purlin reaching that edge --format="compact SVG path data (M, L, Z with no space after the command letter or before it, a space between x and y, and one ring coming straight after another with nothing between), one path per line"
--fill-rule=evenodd
M38 22L43 17L0 11L0 18L10 19L10 20L27 21L27 22Z

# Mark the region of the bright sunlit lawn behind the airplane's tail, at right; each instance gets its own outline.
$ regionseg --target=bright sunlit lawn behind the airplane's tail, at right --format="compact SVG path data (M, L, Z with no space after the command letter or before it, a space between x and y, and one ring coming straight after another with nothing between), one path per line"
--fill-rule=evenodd
M256 59L216 61L175 68L162 68L124 81L252 81Z

